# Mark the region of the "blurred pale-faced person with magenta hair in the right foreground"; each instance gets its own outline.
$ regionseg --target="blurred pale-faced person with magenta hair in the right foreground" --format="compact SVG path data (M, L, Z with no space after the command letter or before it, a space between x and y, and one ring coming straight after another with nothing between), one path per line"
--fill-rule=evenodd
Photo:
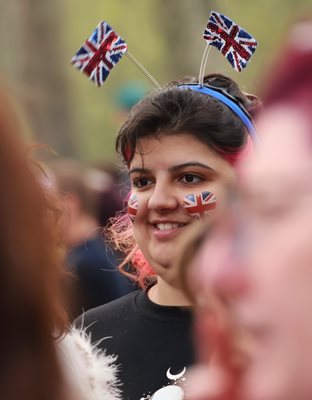
M311 20L292 29L263 98L236 199L183 258L204 366L193 400L312 398Z

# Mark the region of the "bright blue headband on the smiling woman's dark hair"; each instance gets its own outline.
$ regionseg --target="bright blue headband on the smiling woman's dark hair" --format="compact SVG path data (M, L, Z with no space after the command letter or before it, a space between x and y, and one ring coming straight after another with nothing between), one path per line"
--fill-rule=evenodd
M178 85L177 87L182 89L191 89L194 90L195 92L207 94L208 96L214 97L215 99L221 101L221 103L227 105L241 119L243 124L246 126L253 142L254 143L257 142L258 135L252 123L252 120L248 115L248 112L243 108L241 104L238 105L239 104L238 100L236 100L234 97L226 93L225 90L207 85L200 86L197 83L188 83L188 84Z

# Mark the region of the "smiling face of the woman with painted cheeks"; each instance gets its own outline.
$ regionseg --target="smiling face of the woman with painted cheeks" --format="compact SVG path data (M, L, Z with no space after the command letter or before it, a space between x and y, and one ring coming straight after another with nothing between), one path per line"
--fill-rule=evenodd
M178 240L193 221L182 206L184 197L213 192L219 212L235 171L190 134L143 138L136 150L129 169L138 198L135 240L156 273L174 284L171 266L180 252Z

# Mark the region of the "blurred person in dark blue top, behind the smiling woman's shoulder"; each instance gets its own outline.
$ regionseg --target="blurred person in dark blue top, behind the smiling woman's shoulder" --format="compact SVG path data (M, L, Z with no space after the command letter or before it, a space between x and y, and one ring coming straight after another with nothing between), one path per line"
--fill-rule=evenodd
M111 212L111 215L106 213L106 219L115 216L121 201L112 189L114 176L108 169L100 170L65 158L54 159L47 167L64 210L62 228L68 249L67 265L76 278L70 307L73 320L83 311L135 288L117 270L118 253L107 247L99 221L99 213L104 218L104 208Z

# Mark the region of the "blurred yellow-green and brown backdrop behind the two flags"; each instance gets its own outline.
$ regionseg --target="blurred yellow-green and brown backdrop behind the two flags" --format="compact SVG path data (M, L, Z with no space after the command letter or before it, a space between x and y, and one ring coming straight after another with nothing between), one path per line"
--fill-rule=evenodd
M259 47L239 74L212 49L206 72L234 77L246 91L279 54L289 22L312 13L311 0L0 0L1 77L12 93L30 142L86 162L113 161L128 84L138 96L150 82L123 57L98 88L70 65L99 21L125 39L129 51L163 85L198 75L202 34L211 10L253 34Z

